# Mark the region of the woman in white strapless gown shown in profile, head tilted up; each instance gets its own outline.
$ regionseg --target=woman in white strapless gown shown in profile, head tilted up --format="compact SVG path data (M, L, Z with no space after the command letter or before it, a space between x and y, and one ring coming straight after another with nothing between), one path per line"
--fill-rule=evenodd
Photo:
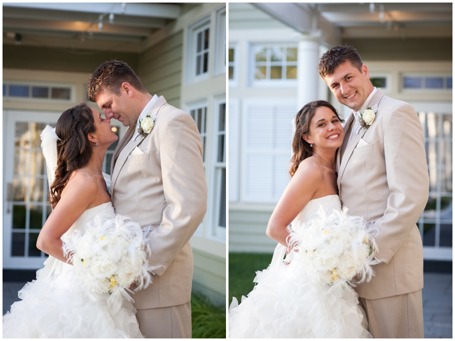
M62 250L95 216L115 216L101 172L107 148L118 139L109 124L81 103L60 116L55 133L48 126L41 135L53 211L36 246L50 257L37 279L19 291L22 301L3 316L3 337L143 337L132 303L112 302L108 293L90 300L75 284L74 267Z

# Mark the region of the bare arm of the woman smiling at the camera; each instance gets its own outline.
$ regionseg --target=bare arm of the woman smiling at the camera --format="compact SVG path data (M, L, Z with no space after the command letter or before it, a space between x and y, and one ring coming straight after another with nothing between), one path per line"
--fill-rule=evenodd
M310 159L302 161L268 221L266 235L287 247L287 227L319 192L323 180L321 167Z

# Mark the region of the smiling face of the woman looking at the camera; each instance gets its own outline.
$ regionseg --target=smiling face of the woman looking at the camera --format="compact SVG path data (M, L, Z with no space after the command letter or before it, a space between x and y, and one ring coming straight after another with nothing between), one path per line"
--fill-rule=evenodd
M309 134L303 139L316 148L335 148L343 143L343 127L338 116L328 107L316 109L309 124Z

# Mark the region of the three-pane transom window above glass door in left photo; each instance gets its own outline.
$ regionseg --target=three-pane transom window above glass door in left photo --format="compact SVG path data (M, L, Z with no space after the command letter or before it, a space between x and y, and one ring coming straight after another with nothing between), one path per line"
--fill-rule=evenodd
M3 96L11 99L33 99L46 101L74 101L74 86L45 83L5 82Z

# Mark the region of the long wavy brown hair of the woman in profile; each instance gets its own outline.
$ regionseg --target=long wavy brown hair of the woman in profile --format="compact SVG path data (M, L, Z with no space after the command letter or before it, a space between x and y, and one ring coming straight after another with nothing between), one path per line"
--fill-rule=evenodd
M58 119L55 133L57 140L57 169L51 184L49 203L52 208L60 200L71 173L87 165L92 159L93 151L88 142L88 134L95 133L95 120L85 103L66 110Z

